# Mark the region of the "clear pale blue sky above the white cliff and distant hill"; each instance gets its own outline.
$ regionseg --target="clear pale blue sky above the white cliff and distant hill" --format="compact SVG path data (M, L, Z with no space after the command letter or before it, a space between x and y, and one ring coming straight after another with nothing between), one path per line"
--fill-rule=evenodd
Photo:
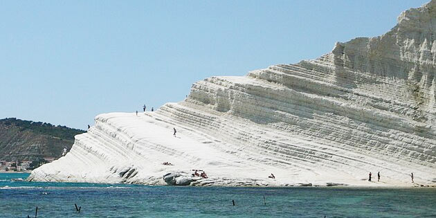
M179 102L381 35L427 1L1 1L0 118L86 129L98 113Z

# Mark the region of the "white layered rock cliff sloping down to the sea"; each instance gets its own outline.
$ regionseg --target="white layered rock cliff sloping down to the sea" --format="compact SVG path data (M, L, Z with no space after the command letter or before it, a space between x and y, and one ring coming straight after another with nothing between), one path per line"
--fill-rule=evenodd
M316 60L208 78L155 112L101 114L29 180L412 185L413 172L415 184L436 185L435 40L431 1Z

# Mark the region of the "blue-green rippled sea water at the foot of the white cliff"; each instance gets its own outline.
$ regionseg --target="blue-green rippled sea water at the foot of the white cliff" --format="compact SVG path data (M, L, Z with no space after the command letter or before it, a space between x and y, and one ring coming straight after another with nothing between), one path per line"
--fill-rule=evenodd
M221 188L13 181L27 176L0 174L0 217L35 217L36 207L37 217L436 217L435 188ZM81 207L80 212L74 204Z

